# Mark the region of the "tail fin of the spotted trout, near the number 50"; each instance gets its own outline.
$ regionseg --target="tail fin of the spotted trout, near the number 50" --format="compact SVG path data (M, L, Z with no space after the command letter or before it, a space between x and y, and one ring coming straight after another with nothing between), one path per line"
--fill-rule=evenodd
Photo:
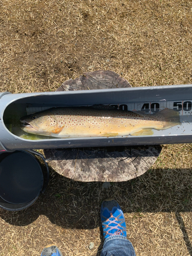
M165 122L162 130L165 130L165 129L168 129L170 127L180 124L179 112L176 112L175 110L164 109L155 115L157 115L158 117L160 116L161 120Z

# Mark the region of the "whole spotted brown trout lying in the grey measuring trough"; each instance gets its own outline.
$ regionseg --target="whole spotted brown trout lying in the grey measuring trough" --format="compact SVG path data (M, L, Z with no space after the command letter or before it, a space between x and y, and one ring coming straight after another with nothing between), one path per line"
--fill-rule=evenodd
M179 113L164 109L154 114L91 107L57 107L20 119L27 133L56 138L153 135L180 124Z

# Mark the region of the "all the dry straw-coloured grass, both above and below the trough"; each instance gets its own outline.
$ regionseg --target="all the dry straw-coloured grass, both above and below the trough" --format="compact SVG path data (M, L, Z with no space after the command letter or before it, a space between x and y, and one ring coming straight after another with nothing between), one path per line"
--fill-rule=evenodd
M191 82L191 1L3 0L0 8L2 92L55 91L101 69L136 87ZM137 255L192 255L191 195L190 144L164 145L147 173L108 190L52 172L33 206L0 209L0 255L36 256L50 243L63 255L99 255L99 207L109 196Z

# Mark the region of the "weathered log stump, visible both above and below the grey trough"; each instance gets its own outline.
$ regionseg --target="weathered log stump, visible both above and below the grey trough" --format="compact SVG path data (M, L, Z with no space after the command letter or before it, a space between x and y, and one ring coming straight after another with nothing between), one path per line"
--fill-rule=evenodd
M126 87L131 87L130 83L115 72L94 71L63 82L57 91ZM137 178L154 164L160 152L159 145L44 150L46 161L58 174L84 182L115 182Z

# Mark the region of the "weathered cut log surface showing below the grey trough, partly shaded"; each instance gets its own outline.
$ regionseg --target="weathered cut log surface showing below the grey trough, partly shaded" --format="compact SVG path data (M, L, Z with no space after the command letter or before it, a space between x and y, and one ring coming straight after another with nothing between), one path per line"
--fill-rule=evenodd
M45 150L57 173L77 181L126 181L151 167L160 146L92 147Z

